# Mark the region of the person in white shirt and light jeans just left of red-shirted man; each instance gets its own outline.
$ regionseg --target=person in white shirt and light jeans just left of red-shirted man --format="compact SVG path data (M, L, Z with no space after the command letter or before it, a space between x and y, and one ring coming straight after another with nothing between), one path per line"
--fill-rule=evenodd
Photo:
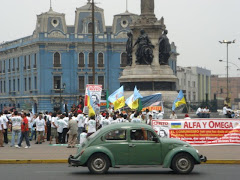
M12 122L12 140L11 140L11 147L15 146L15 136L17 135L17 144L20 142L21 137L21 122L22 117L18 115L18 112L15 111L14 115L11 117Z

